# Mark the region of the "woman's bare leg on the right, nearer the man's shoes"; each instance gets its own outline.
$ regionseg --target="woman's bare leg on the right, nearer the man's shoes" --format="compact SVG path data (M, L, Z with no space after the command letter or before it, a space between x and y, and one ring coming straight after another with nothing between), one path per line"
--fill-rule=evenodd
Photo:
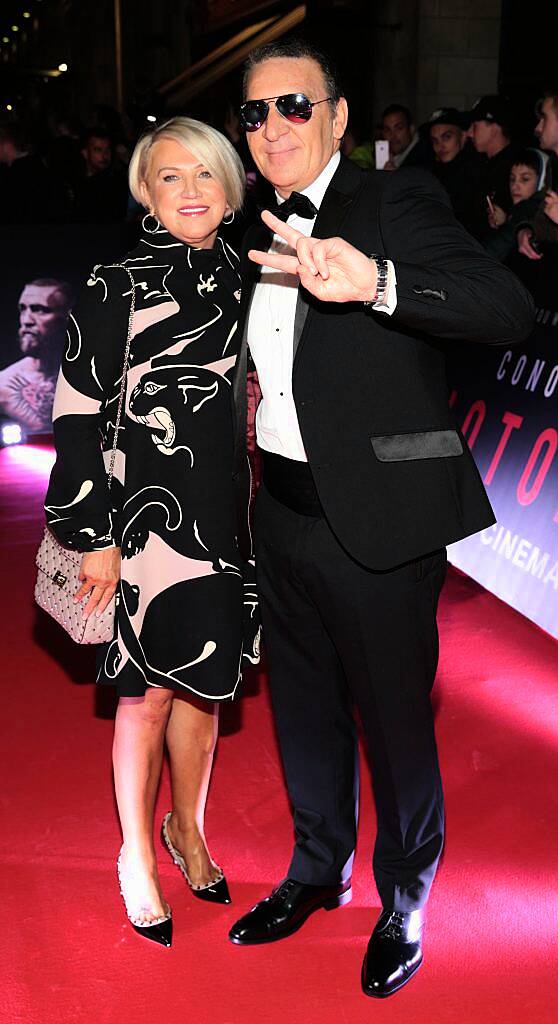
M219 726L218 705L175 695L167 725L172 780L169 839L182 854L192 885L219 877L206 846L204 814Z

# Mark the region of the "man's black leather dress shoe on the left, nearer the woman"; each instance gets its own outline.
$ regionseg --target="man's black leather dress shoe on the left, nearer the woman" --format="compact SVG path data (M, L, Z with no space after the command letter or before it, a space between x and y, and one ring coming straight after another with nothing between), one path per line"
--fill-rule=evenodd
M307 886L294 879L286 879L262 899L249 913L232 925L228 938L238 946L276 942L302 927L314 910L324 907L334 910L349 903L352 896L350 883L344 886Z

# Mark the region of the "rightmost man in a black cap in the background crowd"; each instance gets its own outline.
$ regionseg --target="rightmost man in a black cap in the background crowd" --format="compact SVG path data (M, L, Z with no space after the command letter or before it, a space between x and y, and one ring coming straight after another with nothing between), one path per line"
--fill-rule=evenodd
M515 158L511 143L514 113L506 96L482 96L468 115L469 136L477 153L484 154L482 177L476 189L479 217L488 233L488 201L502 210L511 209L510 171Z

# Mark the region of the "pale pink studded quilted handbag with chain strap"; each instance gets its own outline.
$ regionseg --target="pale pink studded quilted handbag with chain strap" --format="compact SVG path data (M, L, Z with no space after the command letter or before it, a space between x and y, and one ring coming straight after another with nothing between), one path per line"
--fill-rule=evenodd
M128 267L122 263L115 265L122 266L130 278L132 283L132 299L128 318L128 335L124 350L122 383L115 423L115 438L106 477L109 489L111 489L115 471L118 432L120 430L126 395L126 373L135 312L135 286L132 274L128 270ZM102 614L97 616L93 612L87 618L84 618L83 604L81 602L74 602L74 595L81 586L79 579L81 560L81 552L65 548L51 534L48 526L46 526L36 558L38 572L37 583L35 584L35 600L39 607L47 611L70 634L76 643L106 643L106 641L113 639L115 633L116 596L113 597L113 600Z

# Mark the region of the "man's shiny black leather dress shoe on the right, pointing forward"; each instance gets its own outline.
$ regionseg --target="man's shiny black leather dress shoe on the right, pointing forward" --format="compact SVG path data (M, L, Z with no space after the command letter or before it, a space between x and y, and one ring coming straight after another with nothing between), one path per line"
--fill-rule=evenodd
M424 910L382 910L362 964L362 991L378 999L392 995L419 970Z

